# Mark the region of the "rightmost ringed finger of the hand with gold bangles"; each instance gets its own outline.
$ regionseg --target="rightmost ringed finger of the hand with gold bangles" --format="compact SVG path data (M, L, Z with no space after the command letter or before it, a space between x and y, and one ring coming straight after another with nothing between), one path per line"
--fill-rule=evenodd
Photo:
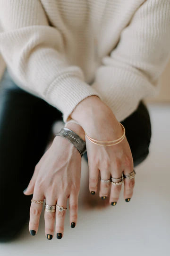
M128 175L129 173L131 173L133 170L124 170L123 173L125 175ZM129 202L130 199L132 198L133 195L133 190L134 190L134 186L135 186L135 178L133 179L129 179L129 178L124 178L124 199L126 202Z

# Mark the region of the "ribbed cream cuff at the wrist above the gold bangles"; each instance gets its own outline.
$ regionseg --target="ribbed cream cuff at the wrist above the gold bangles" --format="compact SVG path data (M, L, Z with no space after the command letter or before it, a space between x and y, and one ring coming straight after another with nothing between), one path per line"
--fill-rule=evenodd
M63 113L63 121L67 122L76 105L91 95L96 95L102 100L102 96L91 85L77 77L77 74L64 73L51 83L45 99Z

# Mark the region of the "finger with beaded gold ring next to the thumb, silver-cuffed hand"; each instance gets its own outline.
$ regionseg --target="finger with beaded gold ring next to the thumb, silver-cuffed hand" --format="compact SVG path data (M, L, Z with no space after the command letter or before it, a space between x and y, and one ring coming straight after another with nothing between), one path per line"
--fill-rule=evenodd
M38 190L36 190L33 194L33 200L35 201L43 201L44 196ZM42 203L34 203L31 202L30 206L30 220L29 220L29 230L30 234L34 236L38 231L40 215L42 212Z

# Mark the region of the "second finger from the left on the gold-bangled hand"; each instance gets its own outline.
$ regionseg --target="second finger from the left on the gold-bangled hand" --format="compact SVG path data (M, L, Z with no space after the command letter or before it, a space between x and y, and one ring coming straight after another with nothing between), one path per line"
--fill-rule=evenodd
M100 171L101 173L101 179L102 180L110 180L110 172L109 171ZM99 196L102 198L102 200L105 200L109 194L110 190L110 182L102 182L100 181L100 192Z

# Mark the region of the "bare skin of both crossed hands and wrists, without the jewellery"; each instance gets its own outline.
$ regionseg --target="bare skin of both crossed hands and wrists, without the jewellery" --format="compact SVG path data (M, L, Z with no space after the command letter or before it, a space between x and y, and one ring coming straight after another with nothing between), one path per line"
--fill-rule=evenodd
M127 138L114 146L98 146L85 136L85 132L94 139L114 140L122 136L122 128L113 112L97 96L89 96L81 101L71 113L71 118L78 124L68 123L67 127L75 131L86 142L89 165L89 190L97 192L99 176L102 179L121 177L122 172L133 171L133 158ZM84 132L85 131L85 132ZM33 194L33 199L46 203L67 207L69 198L70 225L77 222L78 194L80 190L81 155L65 138L56 136L35 166L33 177L25 192ZM131 198L135 179L124 180L124 198ZM111 186L111 188L110 188ZM109 197L109 202L117 202L121 185L114 186L100 183L99 196ZM110 195L109 195L110 192ZM29 230L38 231L42 204L31 203ZM44 212L45 235L64 234L66 211L56 213ZM54 229L54 223L55 229ZM57 236L58 237L58 236ZM58 237L59 238L59 237Z

